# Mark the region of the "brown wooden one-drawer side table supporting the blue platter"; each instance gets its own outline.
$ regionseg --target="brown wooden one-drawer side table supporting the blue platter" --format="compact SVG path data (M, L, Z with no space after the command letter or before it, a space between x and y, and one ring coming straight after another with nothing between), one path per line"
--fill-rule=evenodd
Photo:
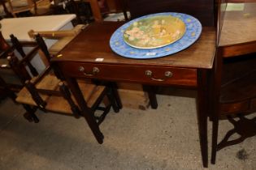
M185 87L197 90L198 128L203 165L206 167L208 162L206 84L208 79L207 70L212 68L215 56L215 28L204 27L199 40L180 53L156 59L136 60L120 57L111 51L109 40L112 33L121 24L103 22L89 25L59 53L61 57L54 57L51 61L58 64L60 70L68 79L68 85L72 87L72 92L77 102L79 102L80 108L85 109L85 112L87 108L84 106L85 103L74 79L77 77L155 86ZM97 58L103 58L103 61L97 62ZM80 66L84 69L81 70ZM93 67L97 67L99 71L93 72ZM146 70L151 70L154 76L146 76ZM168 79L163 76L167 70L173 73L173 76ZM95 126L89 116L86 120L89 122L95 138L102 143L102 133L98 126Z

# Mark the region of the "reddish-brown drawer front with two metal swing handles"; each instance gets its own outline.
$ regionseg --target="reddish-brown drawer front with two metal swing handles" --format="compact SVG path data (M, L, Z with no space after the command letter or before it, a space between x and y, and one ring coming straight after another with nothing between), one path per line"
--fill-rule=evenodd
M65 74L72 77L128 81L157 85L197 86L196 69L76 62L63 62L60 67L64 70Z

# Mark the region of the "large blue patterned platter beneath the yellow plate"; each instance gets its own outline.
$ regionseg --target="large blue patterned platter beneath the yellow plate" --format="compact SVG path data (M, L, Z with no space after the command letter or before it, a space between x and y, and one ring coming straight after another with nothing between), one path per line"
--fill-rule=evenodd
M154 48L154 49L138 49L134 48L131 45L128 45L124 41L125 32L128 28L132 28L132 24L142 19L154 18L157 16L171 16L174 18L180 19L185 24L185 32L184 35L180 38L180 40L176 40L175 42L164 45L162 47ZM164 57L170 55L172 53L180 52L183 49L188 48L190 45L199 38L202 32L201 23L195 19L191 15L167 12L167 13L158 13L153 15L145 15L137 19L133 19L132 21L125 23L120 28L118 28L113 35L111 36L110 45L111 49L123 57L128 58L136 58L136 59L148 59L148 58L156 58L156 57Z

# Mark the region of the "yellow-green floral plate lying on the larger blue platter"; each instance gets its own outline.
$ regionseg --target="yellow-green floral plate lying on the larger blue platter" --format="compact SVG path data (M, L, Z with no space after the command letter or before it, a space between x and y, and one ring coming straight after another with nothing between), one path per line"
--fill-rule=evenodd
M133 22L124 31L124 42L138 49L170 45L184 35L184 22L171 15L157 15Z

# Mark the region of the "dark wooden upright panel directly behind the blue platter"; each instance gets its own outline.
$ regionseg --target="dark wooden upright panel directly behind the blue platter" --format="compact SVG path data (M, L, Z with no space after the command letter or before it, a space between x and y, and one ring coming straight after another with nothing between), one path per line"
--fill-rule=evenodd
M215 25L215 0L127 0L131 19L159 12L193 15L203 26Z

